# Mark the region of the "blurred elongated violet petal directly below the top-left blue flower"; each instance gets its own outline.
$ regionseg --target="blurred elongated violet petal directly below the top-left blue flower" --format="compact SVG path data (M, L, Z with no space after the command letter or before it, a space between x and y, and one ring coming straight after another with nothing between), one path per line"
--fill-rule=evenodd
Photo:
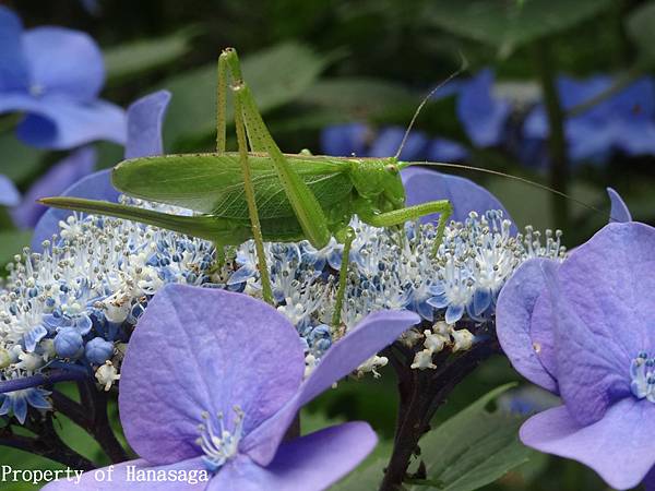
M14 223L22 228L34 227L39 217L48 209L38 204L36 200L61 194L71 184L90 175L95 161L96 152L87 146L57 163L32 184L32 188L25 193L23 202L11 211Z

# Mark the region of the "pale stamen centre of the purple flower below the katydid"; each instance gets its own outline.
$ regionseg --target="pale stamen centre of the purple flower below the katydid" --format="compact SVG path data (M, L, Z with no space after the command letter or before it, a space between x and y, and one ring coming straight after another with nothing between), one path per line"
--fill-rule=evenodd
M200 438L196 443L204 452L202 460L210 472L216 472L225 465L227 460L237 455L239 442L243 433L243 411L239 406L234 407L236 414L234 430L229 432L225 428L225 418L223 412L218 412L218 424L214 427L214 421L210 419L210 414L204 411L202 419L204 423L198 426Z

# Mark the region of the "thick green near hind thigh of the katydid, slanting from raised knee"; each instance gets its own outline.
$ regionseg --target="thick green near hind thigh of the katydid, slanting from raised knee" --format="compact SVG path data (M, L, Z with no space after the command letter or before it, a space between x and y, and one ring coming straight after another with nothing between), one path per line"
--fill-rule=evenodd
M332 233L319 201L307 183L289 166L286 157L271 136L250 89L242 80L238 80L240 68L236 51L226 50L222 56L235 79L233 91L235 99L238 99L240 105L251 148L254 152L269 154L305 237L315 248L325 247L330 242Z

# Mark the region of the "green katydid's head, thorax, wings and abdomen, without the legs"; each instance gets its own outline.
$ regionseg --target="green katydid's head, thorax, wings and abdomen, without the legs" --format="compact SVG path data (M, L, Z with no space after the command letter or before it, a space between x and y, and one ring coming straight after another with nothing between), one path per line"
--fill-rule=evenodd
M343 232L354 211L362 217L374 216L404 205L405 192L393 159L285 157L315 196L325 213L327 228L335 236ZM267 241L303 239L302 227L270 158L249 154L249 166L263 238ZM193 209L203 214L196 219L212 217L216 224L229 221L243 229L236 237L230 229L221 237L213 236L212 240L236 246L250 233L238 154L167 155L127 160L114 169L112 181L130 196Z

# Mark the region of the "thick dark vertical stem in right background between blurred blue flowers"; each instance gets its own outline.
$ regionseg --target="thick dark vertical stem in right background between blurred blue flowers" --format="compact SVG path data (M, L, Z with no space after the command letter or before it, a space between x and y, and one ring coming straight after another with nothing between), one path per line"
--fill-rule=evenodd
M568 193L569 164L567 160L567 140L564 136L564 112L557 92L556 72L550 39L539 39L534 44L534 59L544 95L546 115L550 134L550 187ZM559 228L568 229L569 201L552 196L552 213Z

